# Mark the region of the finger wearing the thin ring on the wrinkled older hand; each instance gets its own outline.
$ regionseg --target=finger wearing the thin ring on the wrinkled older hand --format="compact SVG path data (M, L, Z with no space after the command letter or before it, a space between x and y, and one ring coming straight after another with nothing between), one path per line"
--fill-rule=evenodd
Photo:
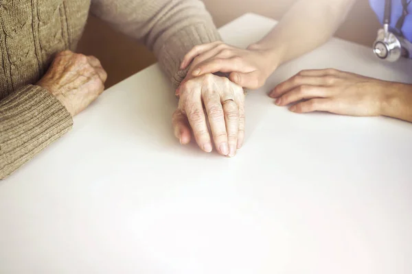
M233 157L236 155L236 149L238 149L239 107L231 99L222 101L222 106L225 113L227 143L229 145L229 153L227 155Z

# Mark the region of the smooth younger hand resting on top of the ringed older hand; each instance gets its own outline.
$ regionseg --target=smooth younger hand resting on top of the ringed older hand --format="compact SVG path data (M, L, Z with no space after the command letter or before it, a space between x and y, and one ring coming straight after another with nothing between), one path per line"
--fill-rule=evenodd
M244 88L260 88L275 70L271 64L270 51L251 45L248 49L238 49L223 42L212 42L195 46L185 55L181 69L190 66L187 73L191 77L206 73L230 73L231 82Z

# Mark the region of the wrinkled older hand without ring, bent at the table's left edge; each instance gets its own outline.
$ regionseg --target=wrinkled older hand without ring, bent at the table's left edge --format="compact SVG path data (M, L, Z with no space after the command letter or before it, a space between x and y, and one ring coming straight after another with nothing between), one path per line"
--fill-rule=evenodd
M62 51L37 85L51 92L75 116L103 92L106 78L97 58Z

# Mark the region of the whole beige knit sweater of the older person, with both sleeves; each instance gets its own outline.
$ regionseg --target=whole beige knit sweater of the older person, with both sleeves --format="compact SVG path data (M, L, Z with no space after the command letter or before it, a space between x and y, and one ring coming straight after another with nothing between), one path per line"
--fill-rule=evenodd
M35 83L56 53L76 49L89 11L152 49L174 86L183 55L220 39L198 0L0 0L0 179L71 128L69 112Z

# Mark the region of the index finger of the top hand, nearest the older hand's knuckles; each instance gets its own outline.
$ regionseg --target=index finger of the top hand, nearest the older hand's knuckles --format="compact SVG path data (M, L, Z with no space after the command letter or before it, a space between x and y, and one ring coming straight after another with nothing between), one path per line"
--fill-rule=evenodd
M213 58L196 65L196 69L194 69L193 73L196 73L196 76L198 76L207 73L231 73L234 71L240 73L250 73L252 69L248 64L245 64L244 61L238 57Z

